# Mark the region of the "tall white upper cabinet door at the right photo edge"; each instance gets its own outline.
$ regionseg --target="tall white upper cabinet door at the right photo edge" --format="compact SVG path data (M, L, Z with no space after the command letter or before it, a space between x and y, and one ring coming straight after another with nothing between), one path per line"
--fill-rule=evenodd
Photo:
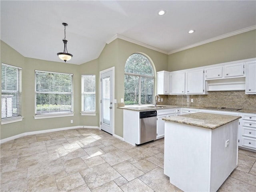
M246 64L245 93L256 94L256 61Z

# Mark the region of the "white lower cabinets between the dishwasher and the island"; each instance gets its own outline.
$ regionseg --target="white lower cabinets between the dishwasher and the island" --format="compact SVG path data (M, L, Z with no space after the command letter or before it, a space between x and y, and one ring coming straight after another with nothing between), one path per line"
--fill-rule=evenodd
M156 118L156 139L160 139L164 137L164 120L162 118L175 116L180 113L180 109L160 109L157 110L157 118Z

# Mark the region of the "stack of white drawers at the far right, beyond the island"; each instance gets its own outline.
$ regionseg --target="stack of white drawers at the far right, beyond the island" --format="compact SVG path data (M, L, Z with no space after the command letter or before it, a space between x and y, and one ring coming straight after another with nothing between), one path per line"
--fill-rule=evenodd
M242 114L242 147L256 150L256 114Z

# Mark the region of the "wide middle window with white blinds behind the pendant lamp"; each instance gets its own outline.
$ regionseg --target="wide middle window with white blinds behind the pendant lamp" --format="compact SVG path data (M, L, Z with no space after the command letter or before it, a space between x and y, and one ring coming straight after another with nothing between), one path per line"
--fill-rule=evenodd
M73 112L73 74L35 71L36 114Z

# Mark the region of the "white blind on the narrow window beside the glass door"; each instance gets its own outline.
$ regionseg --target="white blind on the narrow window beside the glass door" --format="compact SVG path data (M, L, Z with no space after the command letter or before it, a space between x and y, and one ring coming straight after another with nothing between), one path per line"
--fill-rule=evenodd
M96 112L96 75L82 75L82 112Z

